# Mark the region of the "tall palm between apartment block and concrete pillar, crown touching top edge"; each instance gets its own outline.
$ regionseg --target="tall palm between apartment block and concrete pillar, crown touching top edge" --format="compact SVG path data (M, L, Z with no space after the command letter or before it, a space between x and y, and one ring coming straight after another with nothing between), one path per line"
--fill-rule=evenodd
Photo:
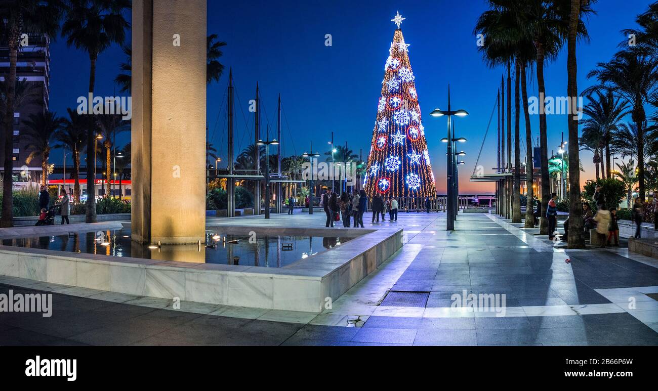
M68 46L85 51L89 55L89 93L93 94L96 80L96 60L113 43L122 45L126 39L126 29L130 24L123 14L131 9L130 0L68 0L66 20L62 35ZM87 129L87 161L94 150L93 128ZM87 164L87 189L94 189L94 167ZM91 193L89 193L91 195ZM87 198L87 223L96 222L95 196Z

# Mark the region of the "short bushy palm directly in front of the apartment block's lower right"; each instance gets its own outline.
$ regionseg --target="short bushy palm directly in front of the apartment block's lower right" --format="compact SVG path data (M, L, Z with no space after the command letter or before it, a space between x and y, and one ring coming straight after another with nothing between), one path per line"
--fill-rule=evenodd
M41 185L43 186L48 183L48 158L55 133L62 126L62 121L57 113L47 111L30 114L30 118L25 122L27 126L25 136L28 139L25 149L30 151L25 163L30 164L37 158L41 159Z

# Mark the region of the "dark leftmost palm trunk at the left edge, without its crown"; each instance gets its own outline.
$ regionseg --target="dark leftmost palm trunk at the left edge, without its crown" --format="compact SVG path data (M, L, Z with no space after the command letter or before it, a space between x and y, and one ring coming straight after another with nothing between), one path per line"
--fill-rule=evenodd
M20 20L20 17L19 17ZM9 32L9 75L7 83L7 106L5 107L5 173L3 175L2 219L0 227L13 227L14 209L14 100L16 99L16 60L18 58L18 35L20 26L11 26Z

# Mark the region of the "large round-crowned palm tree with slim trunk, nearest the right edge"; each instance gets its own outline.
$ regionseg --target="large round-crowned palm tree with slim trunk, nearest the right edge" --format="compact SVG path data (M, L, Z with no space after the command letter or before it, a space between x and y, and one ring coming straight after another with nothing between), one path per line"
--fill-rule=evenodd
M597 69L590 71L588 78L596 78L601 85L588 90L611 91L630 105L631 118L636 125L636 156L645 156L646 113L644 105L658 94L658 58L647 56L642 51L620 51L609 62L599 62ZM644 202L644 159L638 160L640 200Z

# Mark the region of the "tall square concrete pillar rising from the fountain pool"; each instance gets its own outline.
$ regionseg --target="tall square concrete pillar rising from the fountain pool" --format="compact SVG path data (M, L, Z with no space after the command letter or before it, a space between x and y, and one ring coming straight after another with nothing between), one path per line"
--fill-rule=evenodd
M205 0L132 3L132 239L205 235Z

